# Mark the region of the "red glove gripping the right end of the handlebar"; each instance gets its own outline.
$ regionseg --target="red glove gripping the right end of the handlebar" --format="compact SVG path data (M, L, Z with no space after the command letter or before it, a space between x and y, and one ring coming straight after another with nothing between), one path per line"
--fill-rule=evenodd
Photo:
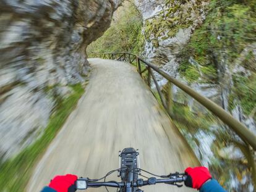
M203 183L211 179L211 174L207 167L187 167L185 170L187 179L185 185L199 190Z

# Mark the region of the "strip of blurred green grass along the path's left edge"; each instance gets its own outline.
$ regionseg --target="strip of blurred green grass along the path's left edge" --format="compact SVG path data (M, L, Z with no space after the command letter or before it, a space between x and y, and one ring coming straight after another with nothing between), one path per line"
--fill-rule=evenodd
M84 93L80 84L71 87L74 93L58 103L41 138L20 152L14 159L9 159L0 165L1 191L25 191L25 186L39 157L45 152Z

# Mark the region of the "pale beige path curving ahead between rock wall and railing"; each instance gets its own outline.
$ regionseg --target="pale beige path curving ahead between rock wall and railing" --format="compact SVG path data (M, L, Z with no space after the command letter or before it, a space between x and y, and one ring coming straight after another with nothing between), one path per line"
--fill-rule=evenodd
M132 65L104 59L89 62L93 73L86 93L36 166L28 191L40 191L56 174L102 177L118 168L118 151L127 147L140 149L141 168L156 174L182 172L197 165ZM116 176L114 173L109 180L119 180ZM142 190L190 191L171 185Z

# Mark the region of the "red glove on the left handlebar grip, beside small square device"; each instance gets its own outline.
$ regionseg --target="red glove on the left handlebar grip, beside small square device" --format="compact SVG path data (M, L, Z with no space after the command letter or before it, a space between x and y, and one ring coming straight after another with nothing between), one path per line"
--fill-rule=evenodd
M75 182L77 175L57 175L49 183L49 187L57 192L70 192L75 191Z

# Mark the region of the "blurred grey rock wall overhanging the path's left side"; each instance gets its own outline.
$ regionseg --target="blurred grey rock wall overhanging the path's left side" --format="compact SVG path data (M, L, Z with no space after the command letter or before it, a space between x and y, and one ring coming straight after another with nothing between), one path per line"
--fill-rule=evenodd
M0 0L0 158L35 140L68 84L89 69L85 49L119 0Z

